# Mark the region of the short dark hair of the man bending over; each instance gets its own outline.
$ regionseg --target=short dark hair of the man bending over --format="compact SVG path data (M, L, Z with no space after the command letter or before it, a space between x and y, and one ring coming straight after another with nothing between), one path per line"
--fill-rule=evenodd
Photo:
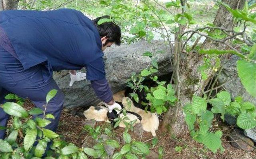
M110 19L109 16L101 16L94 20L92 20L93 24L98 29L98 32L100 33L100 37L106 36L108 40L106 41L106 44L108 42L114 42L116 45L121 44L121 29L118 25L114 24L113 22L104 22L100 25L98 25L98 21L102 18Z

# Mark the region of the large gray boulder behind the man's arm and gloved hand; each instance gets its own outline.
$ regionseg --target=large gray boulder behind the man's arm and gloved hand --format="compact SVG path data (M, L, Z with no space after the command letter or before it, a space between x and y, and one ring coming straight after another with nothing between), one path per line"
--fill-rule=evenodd
M141 41L131 45L121 45L106 49L104 52L106 78L113 93L124 89L126 86L125 81L130 78L132 72L140 73L150 64L150 58L142 56L146 51L164 50L164 54L157 55L157 75L162 76L172 72L170 53L168 53L166 45L164 45L163 41L153 41L153 43L155 44ZM82 70L82 72L85 71ZM65 107L86 107L100 102L90 85L90 81L75 82L72 87L69 87L70 75L68 70L54 72L53 78L65 95Z

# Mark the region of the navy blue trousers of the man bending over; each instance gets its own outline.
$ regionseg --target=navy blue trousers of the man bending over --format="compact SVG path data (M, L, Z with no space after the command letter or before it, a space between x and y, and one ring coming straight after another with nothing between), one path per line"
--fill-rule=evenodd
M48 80L44 78L48 74L47 71L44 65L37 65L24 70L16 58L0 47L0 104L6 102L4 99L6 94L14 93L23 98L28 97L35 103L36 107L44 110L42 105L46 104L46 94L52 89L57 89L56 96L50 100L46 109L46 114L51 113L55 119L45 127L56 131L64 95L52 77ZM38 116L42 117L42 114ZM6 126L8 118L9 115L0 108L0 125ZM0 139L4 139L4 137L5 131L0 130Z

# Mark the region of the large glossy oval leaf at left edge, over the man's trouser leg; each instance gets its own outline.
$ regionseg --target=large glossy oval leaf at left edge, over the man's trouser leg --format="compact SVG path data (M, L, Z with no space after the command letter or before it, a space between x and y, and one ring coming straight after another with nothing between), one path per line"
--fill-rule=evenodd
M28 117L28 112L17 103L6 102L3 104L3 109L9 115L13 115L16 117L24 117L24 118Z

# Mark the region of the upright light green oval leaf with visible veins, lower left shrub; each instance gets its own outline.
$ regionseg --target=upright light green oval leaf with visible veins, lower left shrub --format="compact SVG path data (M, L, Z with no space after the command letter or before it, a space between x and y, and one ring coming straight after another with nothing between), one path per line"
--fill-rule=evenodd
M24 137L24 149L26 151L28 151L36 141L36 135L37 135L36 129L26 130L26 136Z

